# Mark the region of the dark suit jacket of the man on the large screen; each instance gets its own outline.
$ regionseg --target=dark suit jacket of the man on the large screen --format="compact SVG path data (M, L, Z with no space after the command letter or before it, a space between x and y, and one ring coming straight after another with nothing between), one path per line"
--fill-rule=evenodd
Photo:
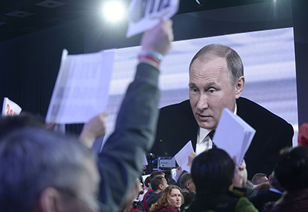
M269 175L276 165L280 149L292 147L292 125L264 107L248 100L236 100L237 115L256 129L245 154L248 178L255 173ZM192 114L189 100L160 109L155 143L151 149L158 156L175 156L191 140L195 149L199 126Z

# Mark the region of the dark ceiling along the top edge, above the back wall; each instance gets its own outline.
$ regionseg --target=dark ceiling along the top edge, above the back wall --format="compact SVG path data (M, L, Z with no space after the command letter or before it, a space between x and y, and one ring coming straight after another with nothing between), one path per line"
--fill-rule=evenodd
M94 16L104 1L111 0L1 0L0 42L74 19ZM128 6L130 0L120 1ZM178 13L265 1L270 0L181 0Z

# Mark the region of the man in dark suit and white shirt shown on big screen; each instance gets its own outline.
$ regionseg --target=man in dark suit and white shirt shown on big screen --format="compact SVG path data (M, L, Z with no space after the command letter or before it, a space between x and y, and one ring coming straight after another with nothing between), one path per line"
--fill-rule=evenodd
M255 173L270 175L279 150L292 146L293 127L260 105L241 98L244 85L239 54L221 44L203 47L190 62L189 100L160 109L151 152L174 156L189 140L197 153L211 149L212 130L223 109L228 108L256 129L245 154L248 178Z

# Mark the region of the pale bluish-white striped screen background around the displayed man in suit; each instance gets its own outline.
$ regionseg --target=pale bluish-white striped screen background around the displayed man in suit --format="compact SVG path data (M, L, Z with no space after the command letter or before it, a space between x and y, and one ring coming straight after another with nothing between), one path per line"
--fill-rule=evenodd
M294 145L298 145L298 111L293 28L262 30L201 39L175 41L161 65L159 107L188 99L188 65L204 45L222 43L239 53L244 65L243 97L249 98L294 127ZM115 118L127 86L133 80L140 47L115 50L115 63L107 111L108 131ZM105 138L108 137L105 136Z

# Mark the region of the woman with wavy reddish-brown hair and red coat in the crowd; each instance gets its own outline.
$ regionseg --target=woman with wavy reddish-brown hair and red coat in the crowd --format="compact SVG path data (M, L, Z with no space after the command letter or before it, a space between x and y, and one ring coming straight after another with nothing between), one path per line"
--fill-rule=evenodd
M170 185L163 191L157 202L151 206L150 212L179 212L183 203L181 189L176 185Z

